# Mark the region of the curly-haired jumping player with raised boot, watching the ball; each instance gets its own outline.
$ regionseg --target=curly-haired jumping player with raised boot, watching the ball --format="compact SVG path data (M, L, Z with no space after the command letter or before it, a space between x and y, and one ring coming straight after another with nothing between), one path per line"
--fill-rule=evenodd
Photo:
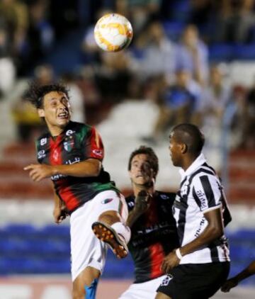
M102 167L103 143L96 129L70 120L67 88L32 85L27 96L48 132L36 141L39 164L24 169L33 181L52 179L55 222L70 215L73 298L93 299L107 244L119 258L128 254L125 198Z

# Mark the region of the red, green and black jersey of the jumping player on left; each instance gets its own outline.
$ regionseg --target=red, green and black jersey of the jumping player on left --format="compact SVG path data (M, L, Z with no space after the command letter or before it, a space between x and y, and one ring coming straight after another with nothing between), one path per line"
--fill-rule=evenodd
M74 164L86 159L103 161L103 142L94 127L69 122L62 134L52 137L49 132L36 141L40 164ZM64 201L70 213L101 191L115 190L115 184L103 168L98 176L77 177L56 174L51 177L55 192Z

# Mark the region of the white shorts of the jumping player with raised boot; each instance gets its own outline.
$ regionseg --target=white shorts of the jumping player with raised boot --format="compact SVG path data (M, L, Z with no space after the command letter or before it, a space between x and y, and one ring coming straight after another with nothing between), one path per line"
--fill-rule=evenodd
M91 229L93 222L108 211L117 211L125 223L128 218L128 207L122 194L115 191L102 191L91 201L84 203L70 217L71 234L71 272L72 281L87 266L103 271L106 262L107 245L101 242Z

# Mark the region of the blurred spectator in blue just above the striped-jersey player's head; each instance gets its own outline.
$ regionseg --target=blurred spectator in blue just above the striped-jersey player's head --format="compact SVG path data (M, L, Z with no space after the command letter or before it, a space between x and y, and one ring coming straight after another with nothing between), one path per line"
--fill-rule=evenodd
M200 113L198 110L200 95L194 92L191 72L188 69L176 71L176 81L168 86L159 78L159 85L156 101L159 105L159 115L151 137L145 137L147 142L157 142L169 127L179 123L200 124ZM196 91L199 90L199 86Z

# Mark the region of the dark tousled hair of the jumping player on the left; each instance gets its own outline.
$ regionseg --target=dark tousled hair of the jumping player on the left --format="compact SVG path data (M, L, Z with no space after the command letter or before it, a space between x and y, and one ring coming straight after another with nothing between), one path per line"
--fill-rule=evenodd
M64 84L49 84L38 85L30 83L29 89L24 94L24 98L35 106L35 108L43 107L43 97L45 94L49 94L51 91L62 92L69 98L69 90Z

